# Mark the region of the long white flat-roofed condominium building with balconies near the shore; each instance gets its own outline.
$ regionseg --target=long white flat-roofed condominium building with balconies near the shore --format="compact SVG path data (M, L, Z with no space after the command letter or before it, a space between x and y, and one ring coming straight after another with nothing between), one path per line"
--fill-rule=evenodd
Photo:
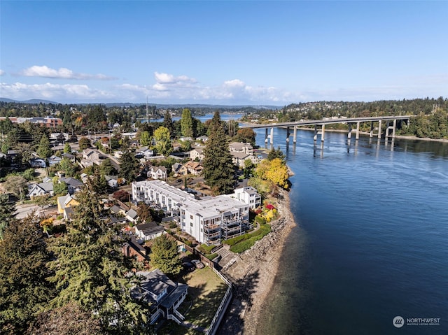
M219 245L221 239L251 229L249 204L226 195L196 199L162 180L146 180L132 183L132 200L162 209L182 231L207 245Z

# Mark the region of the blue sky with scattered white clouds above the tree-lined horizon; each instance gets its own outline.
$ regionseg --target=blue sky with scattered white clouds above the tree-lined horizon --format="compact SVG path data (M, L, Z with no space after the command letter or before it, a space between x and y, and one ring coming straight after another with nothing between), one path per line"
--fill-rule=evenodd
M283 106L448 97L447 1L0 2L0 97Z

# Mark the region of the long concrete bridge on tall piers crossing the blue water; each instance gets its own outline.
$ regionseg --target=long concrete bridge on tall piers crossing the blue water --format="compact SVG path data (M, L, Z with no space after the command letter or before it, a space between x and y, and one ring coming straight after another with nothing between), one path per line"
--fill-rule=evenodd
M370 137L373 137L373 122L378 122L378 133L376 136L381 138L382 134L382 122L386 122L386 138L395 138L395 131L397 129L397 120L405 121L409 123L409 119L414 115L400 115L400 116L377 116L377 117L347 117L347 118L337 118L328 120L305 120L305 121L294 121L294 122L278 122L270 124L244 124L244 128L265 128L265 143L267 143L270 138L270 143L274 143L274 128L281 127L286 128L286 141L289 142L290 129L293 128L293 143L297 142L297 128L303 126L314 125L314 141L317 141L317 136L321 135L321 141L325 140L325 124L335 124L335 123L346 123L349 124L349 133L347 138L351 138L351 132L353 131L353 125L356 124L356 139L359 138L359 125L361 122L370 122ZM321 131L318 131L317 127L321 127ZM268 134L268 129L270 128L270 134Z

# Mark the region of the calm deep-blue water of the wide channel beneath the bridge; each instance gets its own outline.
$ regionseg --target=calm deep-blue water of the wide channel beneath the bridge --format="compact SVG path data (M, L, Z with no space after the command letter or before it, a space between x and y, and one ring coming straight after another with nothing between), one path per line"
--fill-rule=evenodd
M257 333L448 334L448 143L327 132L322 150L312 137L299 131L286 150L274 131L298 227ZM440 326L398 329L397 315Z

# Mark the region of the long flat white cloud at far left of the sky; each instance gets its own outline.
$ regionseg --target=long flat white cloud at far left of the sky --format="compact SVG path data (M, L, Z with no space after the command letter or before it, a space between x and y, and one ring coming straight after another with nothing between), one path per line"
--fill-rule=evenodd
M38 66L34 65L28 69L24 69L19 72L20 76L26 77L43 77L52 79L76 79L76 80L114 80L116 78L105 76L104 74L87 74L87 73L75 73L70 69L64 67L59 69L51 69L48 66Z

